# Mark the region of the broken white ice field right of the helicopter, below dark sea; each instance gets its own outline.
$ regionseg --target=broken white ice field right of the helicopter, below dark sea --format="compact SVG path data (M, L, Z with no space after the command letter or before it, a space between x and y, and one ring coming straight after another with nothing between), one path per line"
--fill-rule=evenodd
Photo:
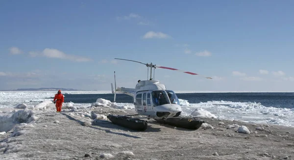
M219 119L241 120L251 123L294 125L294 109L265 107L255 102L208 101L182 107L182 114L188 116L197 108L209 111Z

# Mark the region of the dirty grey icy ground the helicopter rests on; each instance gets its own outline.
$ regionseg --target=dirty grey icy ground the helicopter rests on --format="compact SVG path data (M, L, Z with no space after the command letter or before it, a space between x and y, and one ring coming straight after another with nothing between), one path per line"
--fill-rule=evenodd
M104 160L111 157L119 160L127 157L129 160L249 160L286 156L293 159L294 156L293 127L200 118L214 129L201 127L193 131L148 120L145 132L135 132L100 120L109 113L132 114L134 110L91 107L61 113L35 111L38 118L0 134L0 159L100 160L100 156L104 156ZM252 133L227 129L234 123L246 126ZM256 130L257 127L264 130ZM85 154L90 158L84 158Z

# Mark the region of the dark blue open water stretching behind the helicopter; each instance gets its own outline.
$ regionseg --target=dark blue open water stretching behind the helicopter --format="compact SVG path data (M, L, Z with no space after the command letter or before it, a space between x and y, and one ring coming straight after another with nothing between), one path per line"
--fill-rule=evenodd
M256 102L265 107L294 108L294 93L177 93L179 99L187 100L190 104L205 103L208 101L228 102ZM94 103L98 98L111 102L114 94L65 94L65 102ZM133 103L131 96L117 94L117 103Z

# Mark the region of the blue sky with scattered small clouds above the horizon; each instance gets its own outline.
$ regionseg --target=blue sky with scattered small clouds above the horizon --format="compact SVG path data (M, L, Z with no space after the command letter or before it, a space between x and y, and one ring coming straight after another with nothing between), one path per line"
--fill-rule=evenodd
M1 0L0 90L294 92L292 0ZM153 73L152 73L153 76ZM205 79L203 77L212 77Z

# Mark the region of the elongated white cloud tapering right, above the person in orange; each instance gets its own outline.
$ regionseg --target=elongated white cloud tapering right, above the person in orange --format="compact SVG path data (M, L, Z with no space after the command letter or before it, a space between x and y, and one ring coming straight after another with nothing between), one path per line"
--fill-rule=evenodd
M59 50L49 49L49 48L43 50L42 55L49 58L59 58L59 59L77 61L77 62L87 62L91 60L89 58L80 57L76 55L70 55L70 54L63 53Z

